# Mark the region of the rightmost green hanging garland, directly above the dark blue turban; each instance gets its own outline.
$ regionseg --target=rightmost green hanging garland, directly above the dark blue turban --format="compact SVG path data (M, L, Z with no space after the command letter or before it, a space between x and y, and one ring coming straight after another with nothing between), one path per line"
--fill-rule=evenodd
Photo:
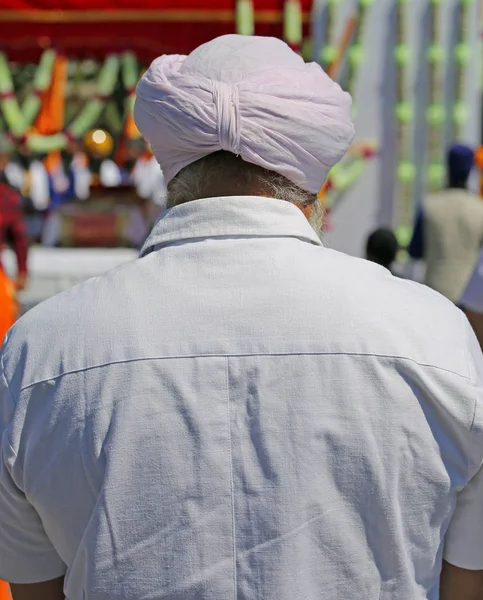
M455 103L453 106L452 139L463 141L468 122L468 107L465 102L468 65L472 51L469 39L470 9L474 0L459 0L457 7L458 40L454 48L455 61Z

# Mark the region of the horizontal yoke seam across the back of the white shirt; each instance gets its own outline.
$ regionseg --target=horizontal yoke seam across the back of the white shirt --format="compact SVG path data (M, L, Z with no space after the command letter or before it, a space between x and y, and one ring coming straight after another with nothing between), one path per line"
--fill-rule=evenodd
M36 385L40 385L42 383L46 383L47 381L55 381L57 379L61 379L62 377L66 377L67 375L75 375L77 373L84 373L86 371L93 371L95 369L102 369L104 367L110 367L113 365L122 365L127 363L137 363L137 362L148 362L155 360L179 360L179 359L194 359L194 358L236 358L236 357L244 357L244 356L360 356L360 357L373 357L373 358L387 358L389 360L404 360L408 362L412 362L419 367L428 368L428 369L436 369L437 371L442 371L444 373L450 373L451 375L455 375L456 377L460 377L462 379L470 380L468 375L462 375L457 371L452 371L451 369L445 369L444 367L438 367L437 365L421 363L414 358L409 358L407 356L398 356L392 354L378 354L376 352L238 352L238 353L200 353L200 354L179 354L172 356L147 356L142 358L127 358L122 360L112 360L104 363L91 365L88 367L81 367L79 369L71 369L70 371L64 371L63 373L59 373L57 375L52 375L51 377L44 377L43 379L39 379L38 381L34 381L29 383L22 388L20 388L20 393L28 390L29 388L35 387Z

